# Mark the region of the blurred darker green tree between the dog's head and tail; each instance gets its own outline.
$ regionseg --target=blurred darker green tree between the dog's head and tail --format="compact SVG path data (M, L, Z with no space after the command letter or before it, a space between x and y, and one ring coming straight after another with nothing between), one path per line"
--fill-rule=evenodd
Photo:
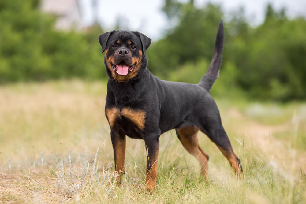
M216 31L223 14L220 6L212 4L197 8L192 3L183 5L175 1L166 2L170 6L175 5L174 9L164 7L167 16L170 20L179 19L179 23L170 28L163 39L152 44L148 50L148 67L152 72L167 77L185 62L195 63L211 57ZM203 72L204 70L205 68Z

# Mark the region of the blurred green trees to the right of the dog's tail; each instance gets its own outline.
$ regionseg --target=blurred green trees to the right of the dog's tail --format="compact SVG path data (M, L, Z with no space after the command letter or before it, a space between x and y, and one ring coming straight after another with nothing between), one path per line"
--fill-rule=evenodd
M305 18L289 20L268 5L264 23L249 30L232 36L226 53L239 69L237 84L252 98L305 99Z

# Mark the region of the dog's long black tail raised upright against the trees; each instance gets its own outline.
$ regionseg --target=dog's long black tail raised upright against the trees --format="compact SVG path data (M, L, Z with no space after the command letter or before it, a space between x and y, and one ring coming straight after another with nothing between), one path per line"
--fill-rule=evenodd
M218 28L218 33L216 37L214 52L212 54L211 63L207 70L207 73L203 76L199 85L206 89L208 92L214 84L215 80L219 77L220 66L222 62L222 51L223 51L223 41L224 41L224 28L223 20L221 20Z

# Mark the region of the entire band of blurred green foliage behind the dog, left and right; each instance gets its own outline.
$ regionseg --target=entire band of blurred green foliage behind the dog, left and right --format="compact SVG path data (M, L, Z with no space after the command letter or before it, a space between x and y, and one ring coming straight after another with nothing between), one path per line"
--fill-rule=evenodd
M161 79L198 83L211 60L224 13L218 5L166 0L169 24L147 51L148 68ZM60 78L106 80L94 24L84 32L54 29L56 17L42 13L37 0L0 1L0 84ZM225 48L211 94L289 101L306 99L306 19L289 19L285 9L266 8L252 27L243 9L225 19Z

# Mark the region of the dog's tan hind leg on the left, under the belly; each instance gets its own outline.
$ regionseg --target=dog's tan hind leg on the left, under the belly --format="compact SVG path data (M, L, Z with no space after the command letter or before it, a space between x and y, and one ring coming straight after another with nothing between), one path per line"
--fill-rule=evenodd
M180 139L185 149L199 161L201 173L206 176L209 157L199 146L197 132L198 128L194 126L176 129L177 137Z

